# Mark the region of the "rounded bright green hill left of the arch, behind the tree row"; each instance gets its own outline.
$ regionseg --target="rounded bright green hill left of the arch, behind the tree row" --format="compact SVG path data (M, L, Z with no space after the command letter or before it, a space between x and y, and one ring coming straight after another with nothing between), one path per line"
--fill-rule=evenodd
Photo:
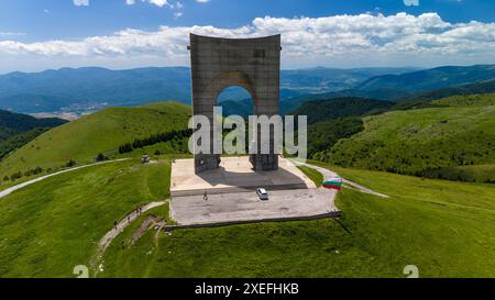
M117 155L118 147L135 138L186 129L190 107L158 102L139 108L110 108L53 129L0 163L0 176L36 167L57 169L70 159L91 163L99 153Z

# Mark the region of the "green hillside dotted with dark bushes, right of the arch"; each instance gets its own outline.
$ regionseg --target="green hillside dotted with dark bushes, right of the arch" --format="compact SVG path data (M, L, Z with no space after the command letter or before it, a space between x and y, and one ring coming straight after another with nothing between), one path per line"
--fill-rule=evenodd
M484 165L490 169L495 164L494 98L452 97L433 101L436 108L367 116L363 132L315 157L345 167L488 182L495 180L493 173L459 177L452 167ZM464 167L463 171L475 169Z

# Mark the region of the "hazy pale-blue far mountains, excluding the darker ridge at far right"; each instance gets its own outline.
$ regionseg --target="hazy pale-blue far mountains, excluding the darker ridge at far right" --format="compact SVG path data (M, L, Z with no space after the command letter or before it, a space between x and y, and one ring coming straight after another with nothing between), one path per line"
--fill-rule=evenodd
M403 74L415 68L308 68L283 70L280 97L348 89L373 76ZM139 105L157 100L190 103L190 69L187 67L62 68L41 73L0 75L0 109L18 112L89 111L114 105ZM229 90L219 101L242 100Z

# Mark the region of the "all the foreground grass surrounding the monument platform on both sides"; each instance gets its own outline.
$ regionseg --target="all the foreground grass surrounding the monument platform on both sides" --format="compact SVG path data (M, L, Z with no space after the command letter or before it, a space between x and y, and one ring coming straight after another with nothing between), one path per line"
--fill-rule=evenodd
M160 207L113 241L98 276L404 277L406 265L417 265L424 277L495 277L493 185L332 169L391 198L343 189L339 220L170 235L150 230L131 245L150 214L168 215ZM74 277L74 266L89 264L113 221L167 198L168 182L169 159L131 159L59 175L1 199L0 277Z

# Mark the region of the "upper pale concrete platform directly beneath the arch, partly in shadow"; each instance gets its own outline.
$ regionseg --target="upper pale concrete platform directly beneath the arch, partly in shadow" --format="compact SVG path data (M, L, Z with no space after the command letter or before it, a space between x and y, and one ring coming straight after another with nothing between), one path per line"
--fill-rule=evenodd
M195 174L194 159L176 159L172 164L170 196L202 196L254 191L258 187L273 190L314 189L315 184L292 162L279 158L278 170L254 171L248 156L222 157L220 168Z

